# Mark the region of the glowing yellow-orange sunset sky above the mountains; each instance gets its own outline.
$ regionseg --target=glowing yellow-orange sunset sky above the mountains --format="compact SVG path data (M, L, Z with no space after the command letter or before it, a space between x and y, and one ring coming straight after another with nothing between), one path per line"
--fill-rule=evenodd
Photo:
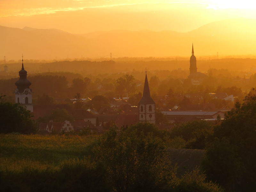
M256 19L251 0L0 0L0 25L93 31L188 32L212 21Z

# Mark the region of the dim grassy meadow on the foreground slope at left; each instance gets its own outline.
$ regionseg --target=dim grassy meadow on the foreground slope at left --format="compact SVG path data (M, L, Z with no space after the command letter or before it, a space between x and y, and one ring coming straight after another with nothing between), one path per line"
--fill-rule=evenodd
M98 135L0 134L0 171L53 168L62 161L91 155Z

